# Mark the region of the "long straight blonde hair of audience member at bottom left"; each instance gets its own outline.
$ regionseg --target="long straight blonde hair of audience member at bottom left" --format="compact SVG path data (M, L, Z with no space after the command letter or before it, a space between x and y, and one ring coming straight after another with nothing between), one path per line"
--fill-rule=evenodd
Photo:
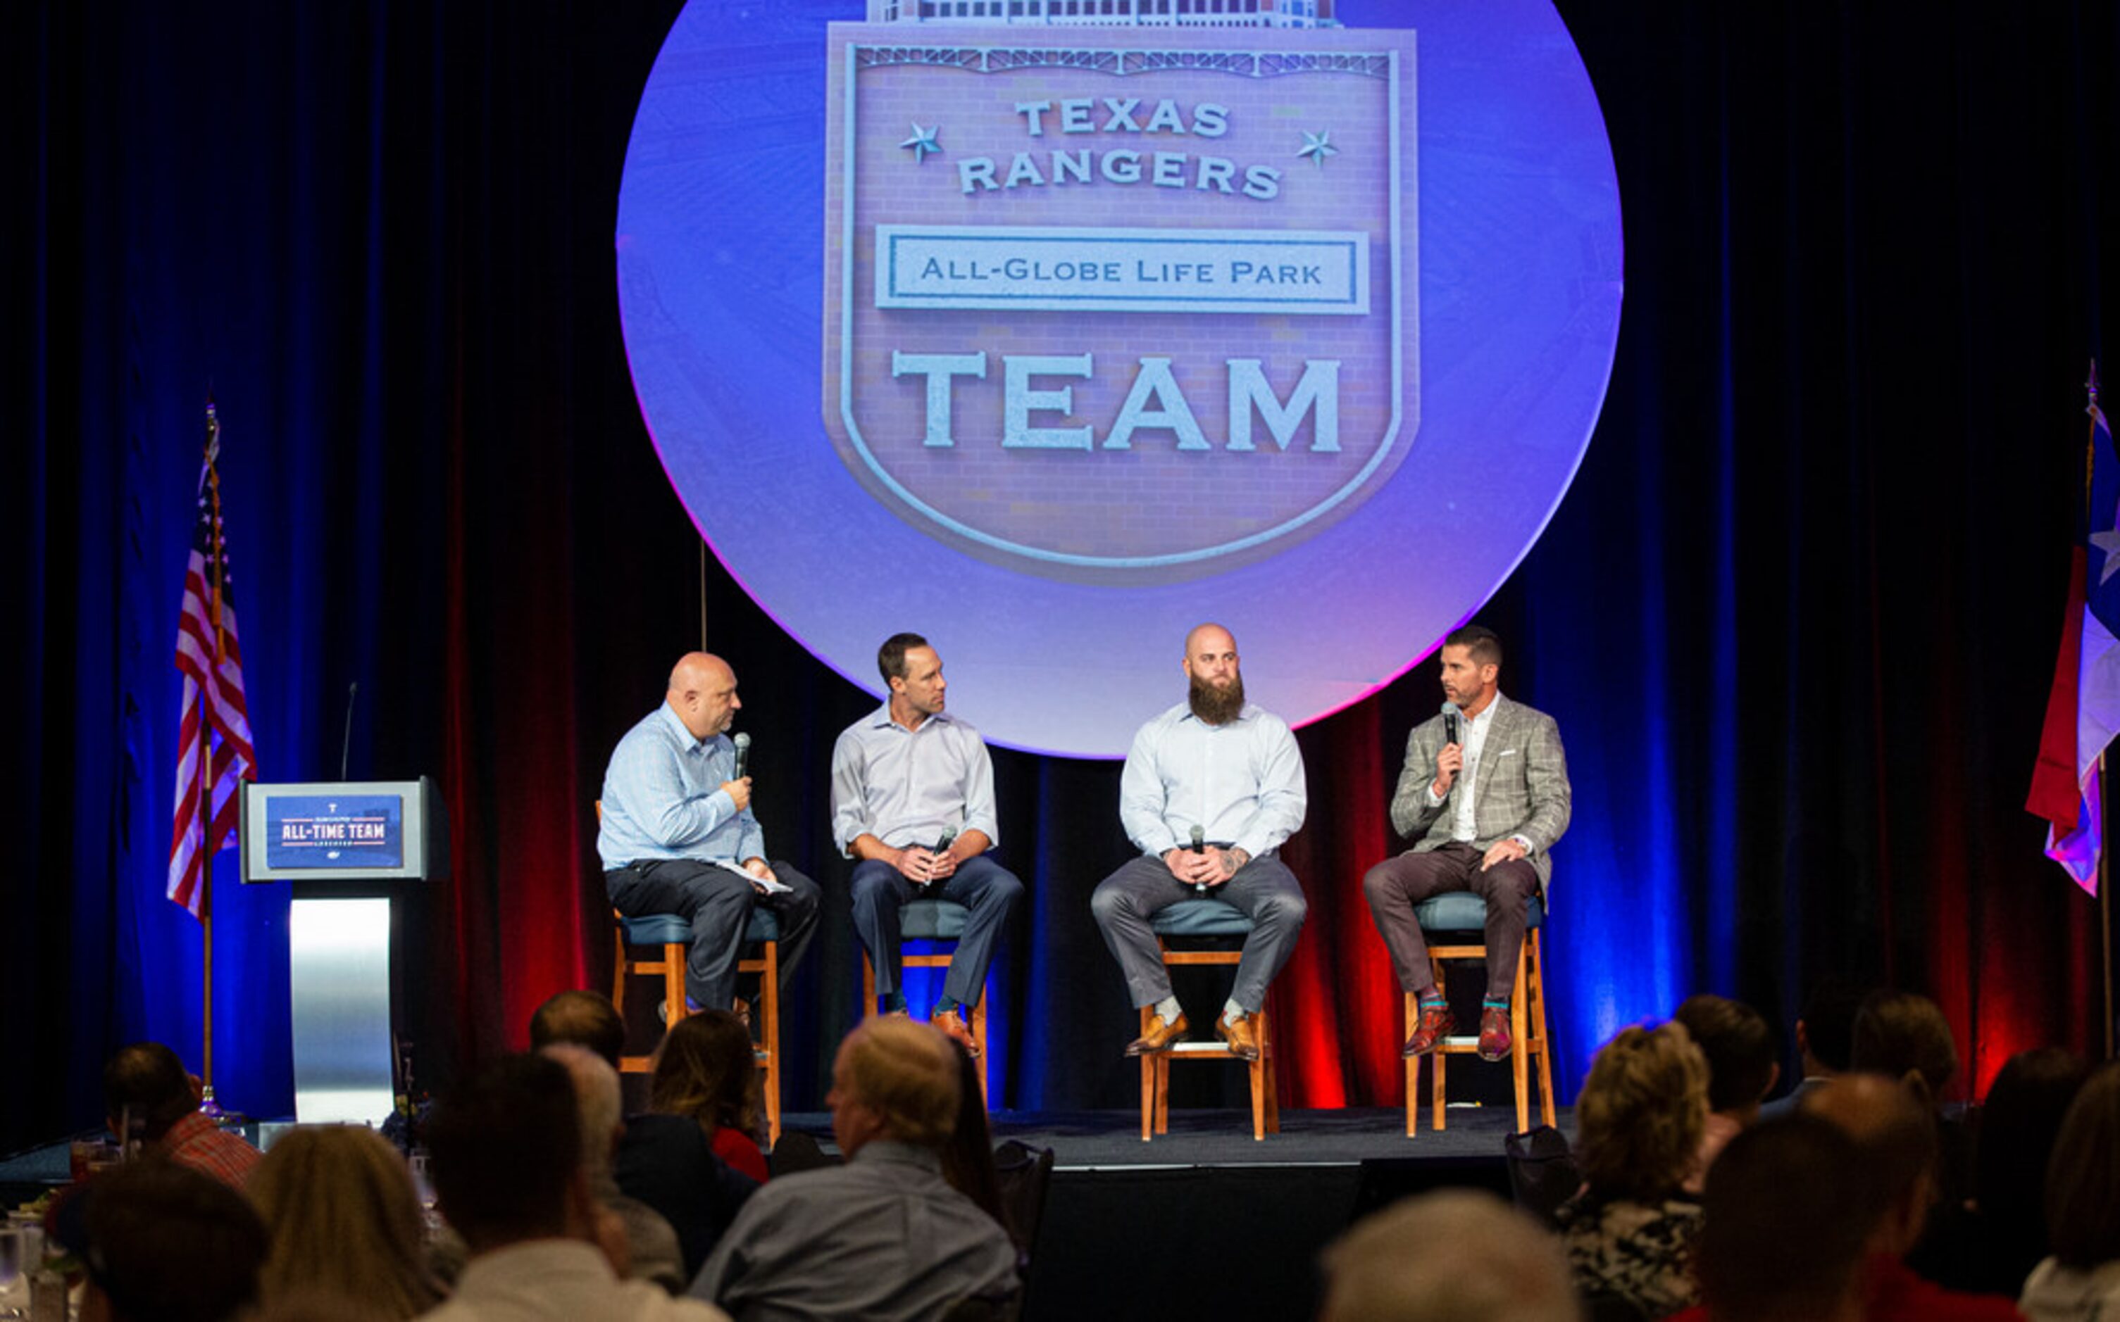
M441 1303L426 1271L420 1195L382 1136L358 1125L288 1129L246 1193L271 1227L267 1305L331 1297L369 1318L418 1318Z

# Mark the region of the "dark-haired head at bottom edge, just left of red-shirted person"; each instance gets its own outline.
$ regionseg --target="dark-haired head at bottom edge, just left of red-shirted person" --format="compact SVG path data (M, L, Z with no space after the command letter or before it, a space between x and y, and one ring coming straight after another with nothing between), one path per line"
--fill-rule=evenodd
M1709 1169L1694 1271L1715 1322L1861 1318L1874 1222L1855 1140L1791 1114L1738 1133Z

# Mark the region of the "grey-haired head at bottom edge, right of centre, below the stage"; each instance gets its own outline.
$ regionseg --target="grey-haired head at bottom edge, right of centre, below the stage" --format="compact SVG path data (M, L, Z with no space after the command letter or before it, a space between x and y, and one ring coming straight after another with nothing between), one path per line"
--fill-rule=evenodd
M1492 1193L1399 1199L1325 1248L1321 1322L1575 1322L1560 1241Z

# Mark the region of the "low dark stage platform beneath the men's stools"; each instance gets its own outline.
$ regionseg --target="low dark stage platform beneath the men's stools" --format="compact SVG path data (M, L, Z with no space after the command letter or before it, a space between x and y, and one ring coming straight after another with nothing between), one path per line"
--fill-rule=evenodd
M1507 1106L1450 1106L1442 1133L1423 1114L1408 1138L1401 1110L1285 1110L1280 1133L1253 1140L1244 1110L1172 1108L1170 1131L1141 1142L1134 1110L994 1112L994 1142L1054 1150L1024 1316L1308 1318L1319 1250L1363 1212L1437 1186L1507 1197L1514 1119ZM1573 1114L1558 1119L1573 1138ZM782 1125L831 1146L825 1112ZM0 1161L0 1199L64 1182L66 1144Z

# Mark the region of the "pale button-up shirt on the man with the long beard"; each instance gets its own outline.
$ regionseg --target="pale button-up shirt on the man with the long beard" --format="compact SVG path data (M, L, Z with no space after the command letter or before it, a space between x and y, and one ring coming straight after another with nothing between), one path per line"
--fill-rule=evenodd
M1295 835L1308 803L1289 722L1255 703L1225 725L1170 708L1141 727L1119 775L1119 822L1143 854L1189 845L1200 826L1257 858Z

